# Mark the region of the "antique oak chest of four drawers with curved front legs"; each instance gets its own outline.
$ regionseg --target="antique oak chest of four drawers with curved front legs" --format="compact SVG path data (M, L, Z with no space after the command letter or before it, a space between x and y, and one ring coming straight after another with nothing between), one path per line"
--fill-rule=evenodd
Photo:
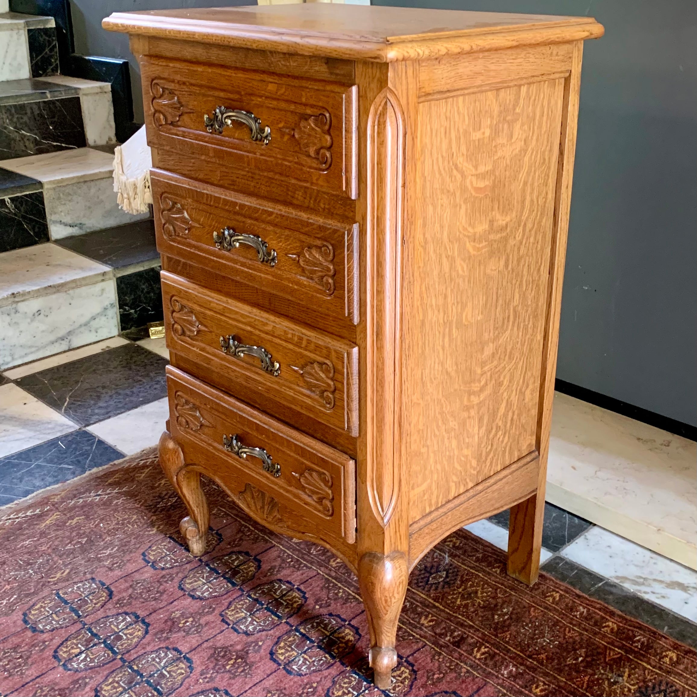
M408 574L511 509L534 583L588 17L330 4L117 13L141 67L160 462L358 574L388 687Z

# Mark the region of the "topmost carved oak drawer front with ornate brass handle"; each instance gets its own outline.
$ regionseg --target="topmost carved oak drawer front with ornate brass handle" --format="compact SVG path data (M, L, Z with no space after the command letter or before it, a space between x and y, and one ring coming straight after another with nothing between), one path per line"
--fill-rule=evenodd
M357 194L356 87L144 58L148 144Z

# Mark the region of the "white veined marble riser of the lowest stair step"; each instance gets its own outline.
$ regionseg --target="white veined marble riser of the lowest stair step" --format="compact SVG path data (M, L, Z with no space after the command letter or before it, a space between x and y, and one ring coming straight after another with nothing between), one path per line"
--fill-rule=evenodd
M0 369L113 337L117 316L114 279L0 307Z

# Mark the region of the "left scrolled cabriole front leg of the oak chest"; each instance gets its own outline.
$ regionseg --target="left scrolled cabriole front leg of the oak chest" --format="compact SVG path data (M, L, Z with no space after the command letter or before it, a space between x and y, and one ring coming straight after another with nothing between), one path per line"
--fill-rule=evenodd
M201 475L185 466L181 447L169 431L164 431L160 436L158 452L160 467L189 511L189 515L179 523L179 530L189 546L189 551L195 556L201 556L206 552L206 533L210 519L206 494L201 489Z

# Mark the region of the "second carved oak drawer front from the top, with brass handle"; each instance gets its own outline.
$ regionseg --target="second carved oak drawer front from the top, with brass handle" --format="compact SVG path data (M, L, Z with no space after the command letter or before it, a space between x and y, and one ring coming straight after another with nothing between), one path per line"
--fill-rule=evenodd
M162 254L358 323L358 224L299 213L158 169L151 183Z

